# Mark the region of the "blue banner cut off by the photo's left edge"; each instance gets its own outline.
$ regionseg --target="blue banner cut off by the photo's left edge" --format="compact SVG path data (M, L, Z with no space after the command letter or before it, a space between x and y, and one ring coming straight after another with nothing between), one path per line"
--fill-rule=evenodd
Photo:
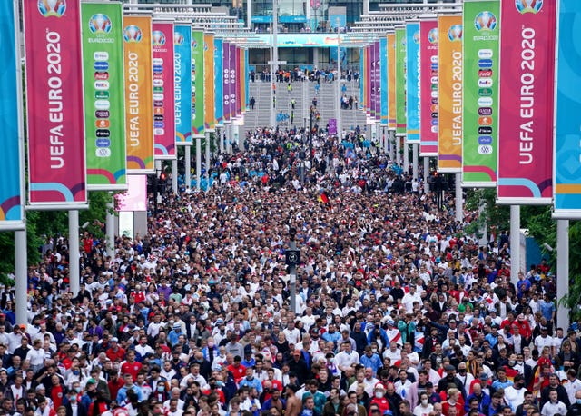
M2 163L3 179L0 183L0 230L18 230L24 227L22 201L22 173L20 156L19 129L22 118L20 109L20 62L16 58L18 45L15 42L15 2L5 0L0 2L0 120L4 120L2 128Z

